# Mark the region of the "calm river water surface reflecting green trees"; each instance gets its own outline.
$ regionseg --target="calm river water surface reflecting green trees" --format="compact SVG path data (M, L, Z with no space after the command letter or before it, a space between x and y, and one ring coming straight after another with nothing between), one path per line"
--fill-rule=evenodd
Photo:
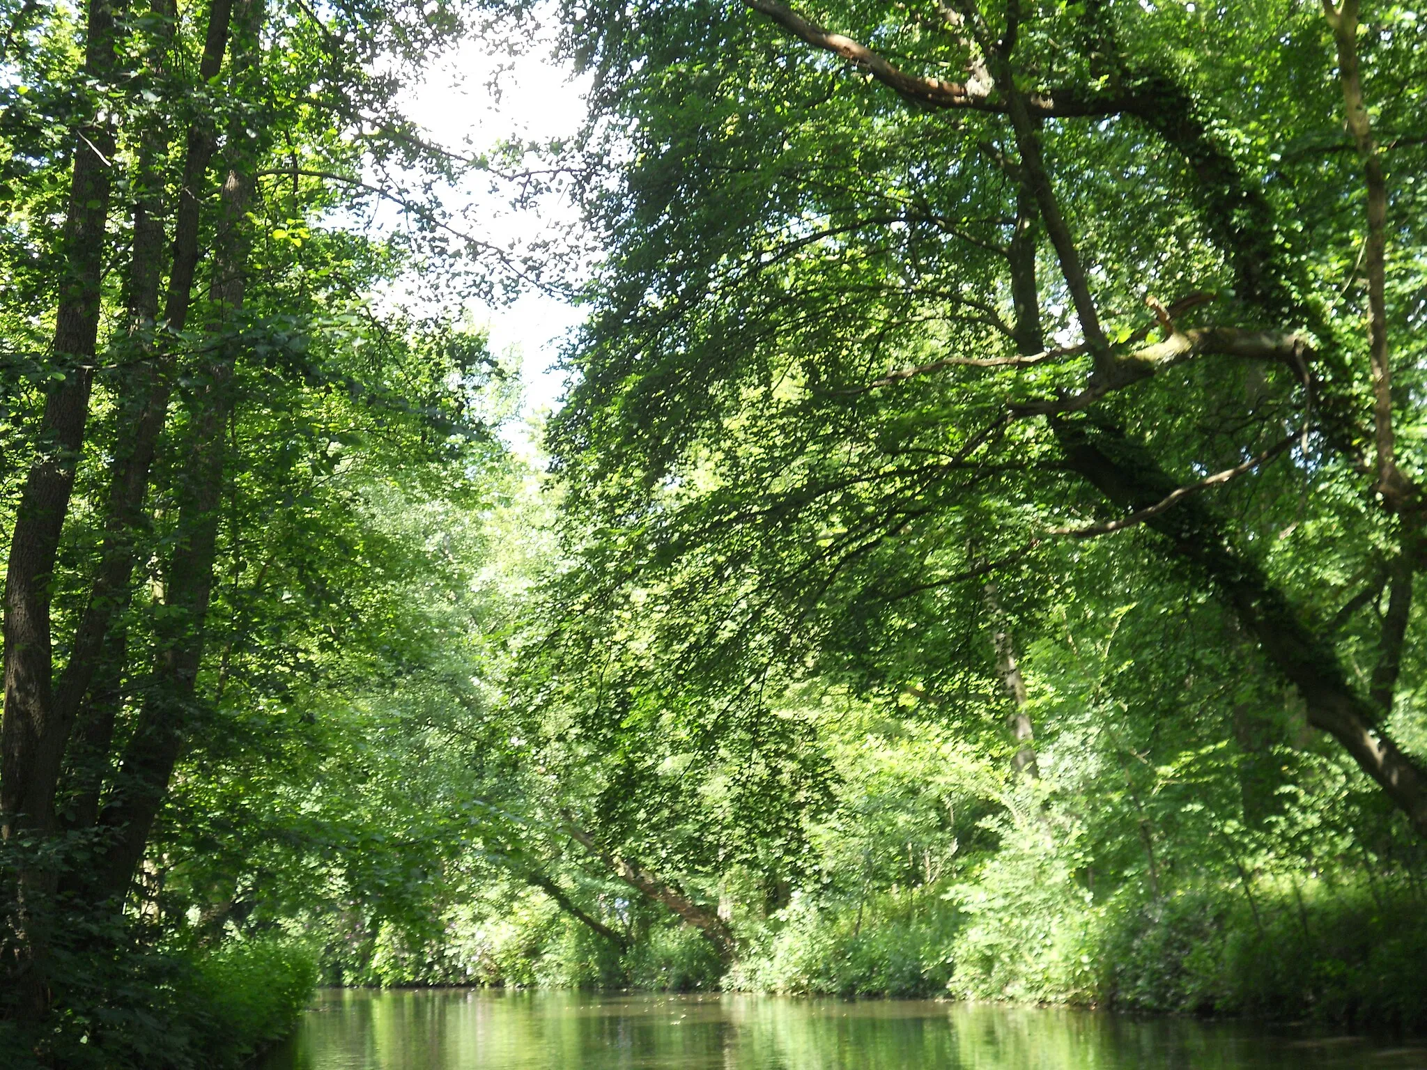
M912 1000L330 990L261 1067L1427 1070L1427 1043Z

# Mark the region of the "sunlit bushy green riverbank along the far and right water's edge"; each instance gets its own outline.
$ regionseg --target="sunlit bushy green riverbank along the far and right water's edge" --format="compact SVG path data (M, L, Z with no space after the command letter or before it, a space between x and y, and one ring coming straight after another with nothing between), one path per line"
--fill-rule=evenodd
M621 953L529 899L499 923L467 916L441 943L374 946L365 976L327 982L507 989L950 997L1012 1004L1427 1029L1427 924L1411 889L1309 879L1097 902L1042 872L975 887L799 897L749 922L723 970L696 932L656 924ZM995 877L997 875L987 875ZM1026 886L1039 889L1035 897ZM347 963L350 967L350 962Z

